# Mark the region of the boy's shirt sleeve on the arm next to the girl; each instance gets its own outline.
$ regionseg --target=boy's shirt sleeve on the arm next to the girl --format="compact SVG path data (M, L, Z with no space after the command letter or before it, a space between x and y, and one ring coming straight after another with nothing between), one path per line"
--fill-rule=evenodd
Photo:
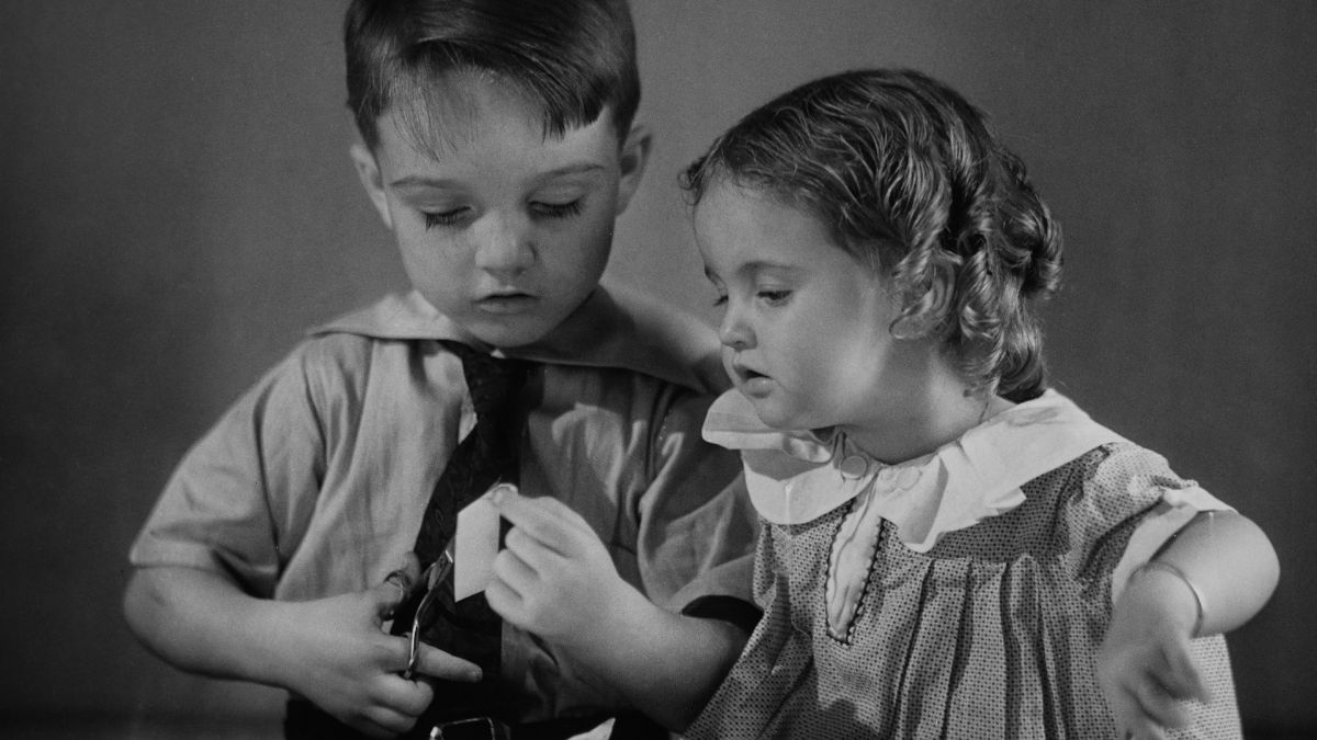
M757 516L740 456L701 438L711 399L674 391L653 436L637 561L647 594L694 616L749 624Z

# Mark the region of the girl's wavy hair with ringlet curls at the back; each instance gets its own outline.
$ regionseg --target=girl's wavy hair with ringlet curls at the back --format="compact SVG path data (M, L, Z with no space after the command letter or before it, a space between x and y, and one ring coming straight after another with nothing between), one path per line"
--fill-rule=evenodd
M801 86L741 119L682 175L691 205L718 179L818 217L889 275L902 319L927 327L977 386L1021 402L1046 390L1026 299L1060 279L1060 229L985 116L910 70Z

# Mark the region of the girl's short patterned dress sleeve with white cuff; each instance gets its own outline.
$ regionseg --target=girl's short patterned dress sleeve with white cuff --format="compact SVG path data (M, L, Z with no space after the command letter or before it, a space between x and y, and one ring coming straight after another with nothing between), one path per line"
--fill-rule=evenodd
M1131 442L1104 445L1088 457L1081 495L1067 503L1067 527L1080 537L1072 568L1085 581L1110 578L1110 598L1135 568L1205 511L1230 507L1180 478L1162 456Z

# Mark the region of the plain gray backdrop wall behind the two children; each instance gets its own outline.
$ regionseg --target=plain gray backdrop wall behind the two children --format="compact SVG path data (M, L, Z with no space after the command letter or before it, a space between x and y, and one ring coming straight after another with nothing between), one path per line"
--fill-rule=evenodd
M0 723L278 710L151 658L119 599L186 448L304 328L403 286L346 158L342 7L0 8ZM877 65L956 86L1064 226L1056 384L1270 533L1284 573L1230 639L1239 700L1256 736L1317 732L1317 5L635 13L657 145L615 277L711 316L677 172L769 96Z

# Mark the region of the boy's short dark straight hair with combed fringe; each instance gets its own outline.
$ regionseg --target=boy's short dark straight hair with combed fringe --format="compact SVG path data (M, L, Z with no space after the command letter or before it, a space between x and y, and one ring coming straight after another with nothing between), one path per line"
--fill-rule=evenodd
M441 76L494 75L537 104L547 136L594 122L619 141L640 104L626 0L353 0L344 18L348 107L366 145L398 103L424 104ZM406 117L411 133L424 124Z

